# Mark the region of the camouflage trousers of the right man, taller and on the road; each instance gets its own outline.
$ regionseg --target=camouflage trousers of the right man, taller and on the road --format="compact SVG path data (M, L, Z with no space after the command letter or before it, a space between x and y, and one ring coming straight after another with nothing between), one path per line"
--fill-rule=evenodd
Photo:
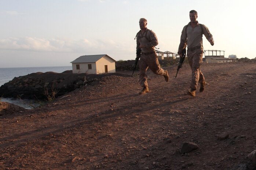
M205 81L203 73L200 71L203 58L202 50L188 51L187 59L192 70L190 88L197 89L198 83Z

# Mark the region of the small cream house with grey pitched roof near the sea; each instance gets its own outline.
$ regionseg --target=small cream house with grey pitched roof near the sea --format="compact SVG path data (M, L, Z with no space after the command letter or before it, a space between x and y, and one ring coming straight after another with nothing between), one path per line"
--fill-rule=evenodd
M115 73L116 60L109 57L107 54L80 56L72 63L73 73Z

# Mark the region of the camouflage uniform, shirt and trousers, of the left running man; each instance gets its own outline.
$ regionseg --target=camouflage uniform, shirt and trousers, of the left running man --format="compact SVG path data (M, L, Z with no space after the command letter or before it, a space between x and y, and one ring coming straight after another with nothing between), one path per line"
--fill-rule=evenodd
M142 34L139 31L136 35L137 38L137 46L136 49L139 49L140 45L144 45L145 47L141 48L141 56L139 62L140 74L139 74L139 82L140 86L148 87L147 84L147 69L150 68L151 71L157 75L167 75L167 71L160 67L157 53L155 51L155 46L158 45L158 40L156 34L147 29Z

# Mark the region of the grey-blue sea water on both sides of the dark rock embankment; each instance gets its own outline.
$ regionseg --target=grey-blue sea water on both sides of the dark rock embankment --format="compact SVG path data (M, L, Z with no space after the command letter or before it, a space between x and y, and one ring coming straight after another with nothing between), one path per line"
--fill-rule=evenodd
M72 66L62 66L62 67L21 67L21 68L0 68L0 86L4 83L11 81L15 77L25 76L36 72L55 72L62 73L67 70L72 70ZM14 98L3 98L0 96L0 101L12 103L24 107L26 109L32 109L39 106L41 103L34 100L26 99L14 99Z

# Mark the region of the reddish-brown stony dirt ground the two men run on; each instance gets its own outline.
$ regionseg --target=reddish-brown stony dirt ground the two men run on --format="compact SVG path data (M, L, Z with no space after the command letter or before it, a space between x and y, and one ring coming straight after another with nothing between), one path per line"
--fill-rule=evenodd
M203 63L209 85L196 97L189 65L175 78L176 66L169 82L148 71L145 95L138 75L112 75L2 114L0 169L255 170L256 63Z

